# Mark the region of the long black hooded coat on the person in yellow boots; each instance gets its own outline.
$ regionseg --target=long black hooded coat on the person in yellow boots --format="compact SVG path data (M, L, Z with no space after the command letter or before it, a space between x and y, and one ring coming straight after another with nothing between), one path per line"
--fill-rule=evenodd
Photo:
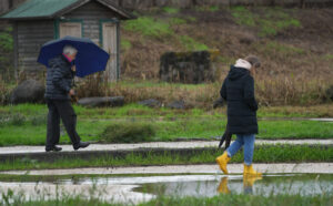
M254 80L250 71L231 66L221 96L228 102L228 126L231 134L258 134Z

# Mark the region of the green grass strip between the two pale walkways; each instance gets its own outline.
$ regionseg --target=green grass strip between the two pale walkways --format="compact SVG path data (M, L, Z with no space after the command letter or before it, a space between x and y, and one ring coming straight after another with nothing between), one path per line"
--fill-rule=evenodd
M80 167L115 167L115 166L149 166L149 165L189 165L214 164L216 156L223 150L195 150L188 153L178 152L130 152L125 156L103 155L81 159L61 158L53 162L37 159L7 161L0 164L0 171L13 169L56 169ZM256 146L254 163L304 163L304 162L332 162L333 148L312 145L275 145ZM232 157L231 163L242 163L243 153L239 152Z

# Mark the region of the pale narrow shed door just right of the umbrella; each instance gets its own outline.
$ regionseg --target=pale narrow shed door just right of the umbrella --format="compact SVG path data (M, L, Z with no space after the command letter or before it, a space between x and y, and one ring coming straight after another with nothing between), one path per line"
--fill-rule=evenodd
M102 24L103 31L103 49L110 54L105 74L108 80L114 82L118 80L118 41L117 41L117 23L105 22Z

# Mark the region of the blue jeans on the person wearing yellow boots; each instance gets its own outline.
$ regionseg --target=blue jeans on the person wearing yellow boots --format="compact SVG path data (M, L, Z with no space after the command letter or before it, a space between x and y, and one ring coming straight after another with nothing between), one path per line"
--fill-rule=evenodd
M244 145L244 163L250 166L253 159L254 134L236 134L238 138L226 150L228 155L232 157Z

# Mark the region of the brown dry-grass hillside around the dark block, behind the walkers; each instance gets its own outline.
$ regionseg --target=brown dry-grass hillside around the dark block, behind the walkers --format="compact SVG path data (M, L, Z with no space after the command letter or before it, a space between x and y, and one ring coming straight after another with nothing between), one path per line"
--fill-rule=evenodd
M244 14L253 16L254 22L265 20L265 25L272 27L269 29L276 29L275 16L290 17L285 21L292 18L300 24L276 30L273 35L260 37L260 24L240 24L229 9L219 12L182 10L169 16L148 13L157 21L168 22L178 18L185 23L171 24L173 34L162 39L123 30L123 40L131 44L122 56L124 79L157 80L160 56L168 51L184 51L186 47L178 39L186 35L210 49L220 50L221 55L214 63L219 81L194 90L172 85L133 89L120 83L111 89L111 93L124 95L128 102L154 97L163 102L185 100L190 105L211 106L219 97L229 65L238 58L253 53L262 60L262 68L255 78L256 96L262 105L326 103L325 91L333 85L333 59L330 58L333 54L333 28L330 24L333 10L253 8L245 11Z

